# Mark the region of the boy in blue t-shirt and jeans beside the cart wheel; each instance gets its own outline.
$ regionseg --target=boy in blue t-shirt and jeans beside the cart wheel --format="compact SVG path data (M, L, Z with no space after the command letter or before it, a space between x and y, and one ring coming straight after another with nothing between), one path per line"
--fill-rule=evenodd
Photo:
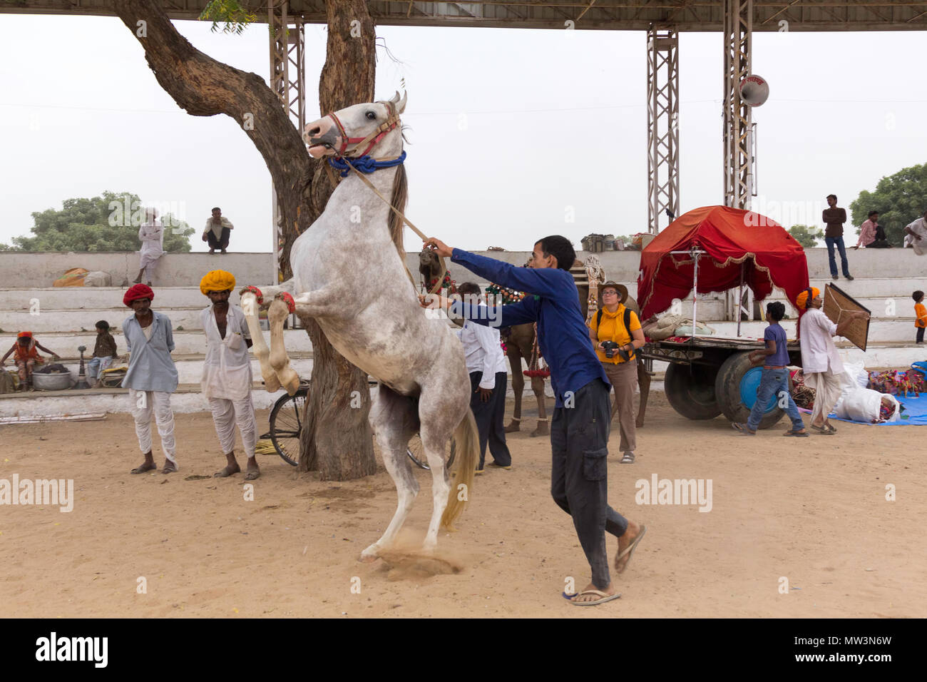
M763 334L766 341L766 348L761 351L754 351L750 354L750 361L759 362L760 358L766 357L763 364L763 378L759 382L759 388L756 390L756 403L750 410L750 417L747 423L734 422L731 426L743 433L745 436L755 436L756 428L759 426L759 420L763 418L763 413L769 405L769 398L778 395L781 399L782 394L788 398L785 405L785 414L792 419L792 429L785 431L787 436L806 437L805 422L802 420L798 407L792 399L792 393L789 392L789 351L786 347L785 329L779 324L782 317L785 316L785 305L781 302L771 302L766 305L766 321L769 326Z

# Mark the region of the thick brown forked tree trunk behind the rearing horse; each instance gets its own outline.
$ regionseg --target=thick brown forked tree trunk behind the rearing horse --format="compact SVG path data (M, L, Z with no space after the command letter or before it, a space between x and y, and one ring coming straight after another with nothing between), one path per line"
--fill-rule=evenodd
M291 277L290 247L324 210L332 192L323 179L322 162L312 160L302 142L302 131L290 122L280 100L260 76L198 51L176 31L155 0L114 0L113 7L145 49L158 83L180 107L193 116L223 113L232 117L260 151L284 222L281 265L285 277ZM363 0L327 0L326 9L327 58L319 87L323 109L373 101L375 28L366 4ZM352 26L355 19L358 23ZM299 469L318 469L323 480L336 481L374 473L367 376L337 354L314 320L303 322L312 340L313 369Z

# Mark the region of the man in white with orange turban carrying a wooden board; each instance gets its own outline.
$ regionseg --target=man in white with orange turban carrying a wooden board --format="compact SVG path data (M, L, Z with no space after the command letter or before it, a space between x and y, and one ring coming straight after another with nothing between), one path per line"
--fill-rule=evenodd
M811 429L825 436L837 432L828 420L833 405L840 399L841 376L844 364L837 354L833 337L844 336L846 328L859 317L868 314L862 311L844 311L839 325L834 324L821 310L823 302L817 287L808 287L795 298L799 310L805 310L799 323L802 348L802 370L805 385L814 389L814 409L811 410Z

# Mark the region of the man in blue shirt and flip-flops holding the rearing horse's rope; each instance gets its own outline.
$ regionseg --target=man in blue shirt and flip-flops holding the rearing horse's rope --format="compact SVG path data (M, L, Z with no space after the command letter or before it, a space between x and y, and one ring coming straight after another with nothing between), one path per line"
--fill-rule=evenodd
M573 517L579 544L592 570L592 582L568 597L578 606L592 606L620 597L612 585L605 552L605 531L618 538L615 567L623 573L646 531L608 506L608 432L611 426L609 384L602 363L592 352L589 330L579 308L576 283L569 273L576 252L565 237L540 239L528 268L452 249L430 238L425 242L439 256L491 282L527 296L517 303L486 311L439 297L451 315L477 324L511 327L538 323L538 346L551 370L555 406L551 422L551 494ZM426 304L423 301L423 304Z

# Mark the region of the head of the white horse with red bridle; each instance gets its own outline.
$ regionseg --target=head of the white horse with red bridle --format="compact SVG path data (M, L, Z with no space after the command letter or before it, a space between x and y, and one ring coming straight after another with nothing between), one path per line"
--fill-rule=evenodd
M355 104L306 123L302 139L314 159L324 156L349 158L399 156L402 150L400 115L406 96L387 101Z

